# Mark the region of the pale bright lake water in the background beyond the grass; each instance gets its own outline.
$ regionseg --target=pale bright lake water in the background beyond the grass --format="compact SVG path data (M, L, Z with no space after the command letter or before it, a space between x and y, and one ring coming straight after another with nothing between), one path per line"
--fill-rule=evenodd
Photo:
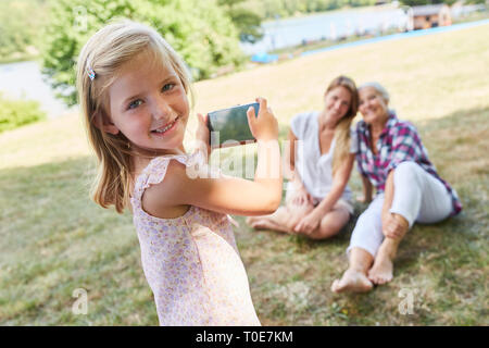
M481 7L452 8L453 17L461 13L480 11ZM392 5L334 11L301 18L263 23L264 38L255 45L242 44L248 54L297 46L302 40L335 39L354 33L376 33L392 27L403 30L409 26L408 15ZM455 26L453 26L455 28ZM416 34L414 32L413 34ZM356 44L350 44L356 45ZM328 48L328 49L334 49ZM63 115L71 110L54 97L51 87L42 79L37 62L0 64L0 92L12 98L37 100L49 117Z

